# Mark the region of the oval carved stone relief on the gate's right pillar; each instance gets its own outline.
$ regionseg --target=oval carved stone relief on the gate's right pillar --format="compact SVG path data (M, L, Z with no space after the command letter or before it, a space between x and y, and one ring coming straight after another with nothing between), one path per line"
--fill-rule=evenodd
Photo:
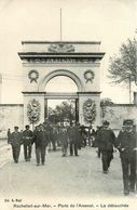
M95 101L88 99L83 104L83 116L86 123L93 123L96 119Z

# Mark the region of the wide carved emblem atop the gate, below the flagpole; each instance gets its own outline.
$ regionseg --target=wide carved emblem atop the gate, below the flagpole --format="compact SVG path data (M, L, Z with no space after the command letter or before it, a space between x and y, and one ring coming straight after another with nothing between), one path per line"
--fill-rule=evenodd
M52 43L47 51L51 53L71 53L74 52L74 47L67 43Z

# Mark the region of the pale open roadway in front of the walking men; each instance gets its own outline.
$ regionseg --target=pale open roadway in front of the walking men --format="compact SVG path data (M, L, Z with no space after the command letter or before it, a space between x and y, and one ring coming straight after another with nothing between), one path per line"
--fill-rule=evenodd
M123 196L119 153L114 153L109 173L104 174L96 149L88 146L79 150L79 157L61 157L60 150L47 152L46 163L40 167L36 166L35 148L30 162L24 161L22 148L18 163L12 160L10 145L6 145L6 149L5 147L1 149L3 149L1 156L4 157L4 163L1 159L0 168L2 200L22 199L23 202L27 199L38 202L42 199L52 200L54 205L57 200L60 204L61 200L74 202L81 200L81 204L85 204L85 200L90 202L96 200L100 205L101 200L102 204L104 200L112 200L110 204L128 204L136 198L135 194L131 194L128 198ZM11 210L13 204L9 205Z

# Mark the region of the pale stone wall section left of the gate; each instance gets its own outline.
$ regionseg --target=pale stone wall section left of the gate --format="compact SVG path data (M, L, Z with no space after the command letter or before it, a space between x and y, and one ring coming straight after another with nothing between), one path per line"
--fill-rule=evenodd
M8 129L23 129L23 104L0 104L0 139L6 137Z

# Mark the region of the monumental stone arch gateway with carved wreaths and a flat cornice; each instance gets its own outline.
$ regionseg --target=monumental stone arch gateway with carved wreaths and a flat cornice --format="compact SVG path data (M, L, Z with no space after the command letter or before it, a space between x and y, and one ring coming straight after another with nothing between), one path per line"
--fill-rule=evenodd
M24 71L24 124L38 124L47 117L47 100L74 99L77 120L100 124L100 42L23 41L18 55ZM74 81L78 92L45 92L54 77Z

